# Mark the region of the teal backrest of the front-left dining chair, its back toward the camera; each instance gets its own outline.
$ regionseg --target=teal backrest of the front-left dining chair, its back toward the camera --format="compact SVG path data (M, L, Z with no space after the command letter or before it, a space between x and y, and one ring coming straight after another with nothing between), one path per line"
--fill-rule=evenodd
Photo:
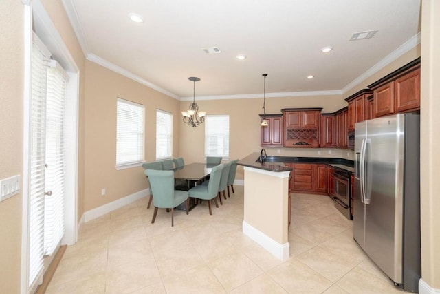
M173 207L174 171L158 171L145 169L151 188L153 189L153 205L159 208Z

